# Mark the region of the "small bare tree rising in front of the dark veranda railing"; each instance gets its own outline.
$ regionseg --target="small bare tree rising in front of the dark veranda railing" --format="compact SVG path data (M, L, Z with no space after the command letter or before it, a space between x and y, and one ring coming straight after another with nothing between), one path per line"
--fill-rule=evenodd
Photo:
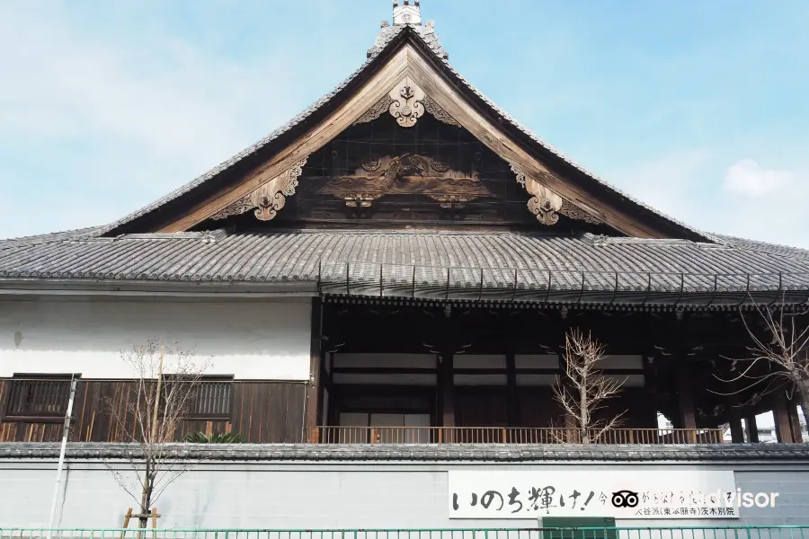
M565 376L554 386L554 397L575 421L575 428L585 444L618 427L621 416L626 413L622 411L609 421L596 419L596 412L621 392L624 383L624 380L602 374L603 358L604 347L590 333L585 335L573 330L565 335Z

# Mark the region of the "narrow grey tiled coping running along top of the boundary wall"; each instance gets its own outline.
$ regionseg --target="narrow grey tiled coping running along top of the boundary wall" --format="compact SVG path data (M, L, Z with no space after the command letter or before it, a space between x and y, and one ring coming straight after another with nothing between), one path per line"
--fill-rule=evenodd
M718 444L713 446L550 445L363 445L176 444L172 456L217 461L807 461L807 444ZM138 455L138 446L67 444L67 459L115 459ZM0 443L0 459L55 459L56 443Z

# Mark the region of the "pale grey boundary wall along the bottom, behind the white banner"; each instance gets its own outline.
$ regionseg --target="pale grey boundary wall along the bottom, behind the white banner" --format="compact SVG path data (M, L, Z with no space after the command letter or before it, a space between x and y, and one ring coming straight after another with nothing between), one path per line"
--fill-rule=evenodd
M0 461L0 527L47 526L56 464L56 459ZM805 463L205 462L173 482L155 505L162 515L161 527L525 528L537 526L537 521L530 518L450 519L447 472L469 469L655 472L678 468L733 470L736 486L742 491L779 492L777 505L775 508L741 508L741 518L619 520L618 526L809 524L809 465ZM133 507L133 499L120 489L100 462L68 462L61 486L56 526L118 527L126 509ZM762 537L765 535L761 533ZM682 536L692 534L687 532ZM633 539L636 537L638 535ZM772 537L778 539L776 534ZM406 535L402 538L406 539Z

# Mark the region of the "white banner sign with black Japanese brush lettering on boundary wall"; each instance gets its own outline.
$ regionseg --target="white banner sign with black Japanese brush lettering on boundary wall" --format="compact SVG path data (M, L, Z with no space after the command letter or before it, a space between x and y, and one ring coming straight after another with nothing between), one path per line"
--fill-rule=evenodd
M738 518L741 497L733 472L449 472L450 518Z

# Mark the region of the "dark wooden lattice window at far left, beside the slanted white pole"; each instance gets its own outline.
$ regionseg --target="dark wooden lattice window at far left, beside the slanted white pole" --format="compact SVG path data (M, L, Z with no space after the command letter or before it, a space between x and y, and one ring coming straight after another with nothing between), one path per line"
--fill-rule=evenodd
M70 375L14 375L8 382L5 421L61 421L70 400Z

